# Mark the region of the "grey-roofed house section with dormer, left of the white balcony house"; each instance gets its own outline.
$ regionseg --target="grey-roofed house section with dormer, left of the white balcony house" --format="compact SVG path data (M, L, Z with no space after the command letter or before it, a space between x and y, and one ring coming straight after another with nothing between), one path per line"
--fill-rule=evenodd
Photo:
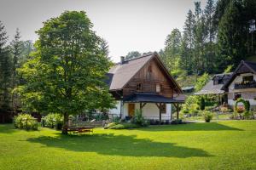
M212 79L207 82L207 84L195 95L216 95L218 97L218 101L220 104L228 103L228 93L225 92L222 88L224 84L230 80L230 77L233 73L224 73L224 74L217 74L212 77Z

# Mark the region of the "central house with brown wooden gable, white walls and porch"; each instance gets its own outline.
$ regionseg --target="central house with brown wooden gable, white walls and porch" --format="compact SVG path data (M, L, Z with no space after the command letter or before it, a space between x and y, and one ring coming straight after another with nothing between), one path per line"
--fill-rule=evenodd
M146 119L172 120L172 105L184 102L182 89L166 70L157 53L121 61L108 71L108 86L117 101L109 114L129 119L136 110Z

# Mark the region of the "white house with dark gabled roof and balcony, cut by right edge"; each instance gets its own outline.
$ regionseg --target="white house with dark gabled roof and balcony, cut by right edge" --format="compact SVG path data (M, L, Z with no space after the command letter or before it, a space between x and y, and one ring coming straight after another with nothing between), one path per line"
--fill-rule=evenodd
M228 93L228 105L235 105L236 99L242 98L256 107L256 63L241 61L229 81L221 88Z

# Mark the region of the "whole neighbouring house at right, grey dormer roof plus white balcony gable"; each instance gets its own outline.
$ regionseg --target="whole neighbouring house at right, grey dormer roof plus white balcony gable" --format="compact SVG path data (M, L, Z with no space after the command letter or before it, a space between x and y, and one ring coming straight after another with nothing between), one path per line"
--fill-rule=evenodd
M256 107L256 63L241 61L236 71L227 74L218 74L207 82L207 85L195 95L215 94L220 103L226 102L233 106L236 99L243 98Z

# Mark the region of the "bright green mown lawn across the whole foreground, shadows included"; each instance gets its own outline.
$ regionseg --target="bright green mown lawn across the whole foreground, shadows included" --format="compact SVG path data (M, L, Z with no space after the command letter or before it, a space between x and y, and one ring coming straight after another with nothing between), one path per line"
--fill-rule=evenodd
M256 169L256 121L63 136L0 125L0 169Z

